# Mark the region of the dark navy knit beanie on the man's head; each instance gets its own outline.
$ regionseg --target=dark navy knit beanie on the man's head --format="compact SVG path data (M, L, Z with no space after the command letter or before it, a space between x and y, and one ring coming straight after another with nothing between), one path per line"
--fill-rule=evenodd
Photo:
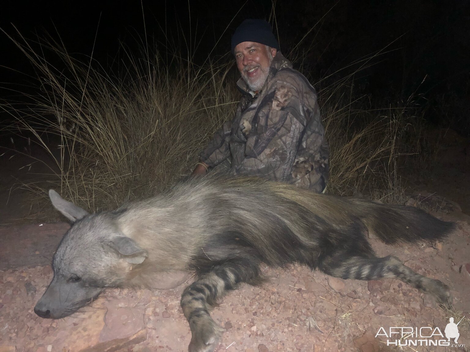
M244 20L238 26L232 36L232 54L235 54L235 46L243 42L260 43L279 50L279 43L265 20Z

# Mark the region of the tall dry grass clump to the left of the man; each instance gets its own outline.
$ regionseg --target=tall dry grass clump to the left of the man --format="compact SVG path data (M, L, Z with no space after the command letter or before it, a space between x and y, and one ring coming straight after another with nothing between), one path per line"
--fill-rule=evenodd
M164 63L158 52L124 52L125 65L111 76L57 42L36 43L40 51L27 40L16 45L36 69L40 91L27 108L2 105L16 120L11 130L35 135L55 160L51 170L60 170L60 191L92 210L148 196L188 174L234 114L231 63L197 67L176 54ZM45 138L51 134L57 145Z

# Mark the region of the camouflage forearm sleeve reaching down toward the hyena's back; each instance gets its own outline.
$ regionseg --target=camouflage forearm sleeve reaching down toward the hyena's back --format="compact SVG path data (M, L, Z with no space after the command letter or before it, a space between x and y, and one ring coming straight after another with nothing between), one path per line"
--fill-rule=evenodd
M222 125L209 144L199 154L201 161L204 161L210 167L219 165L230 156L229 139L232 122L227 121Z

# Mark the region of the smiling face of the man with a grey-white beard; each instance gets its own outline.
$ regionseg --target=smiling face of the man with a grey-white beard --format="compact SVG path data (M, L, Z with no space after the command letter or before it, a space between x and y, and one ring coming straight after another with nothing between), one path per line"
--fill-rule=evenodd
M243 42L235 46L236 66L252 91L259 91L269 74L277 50L264 44Z

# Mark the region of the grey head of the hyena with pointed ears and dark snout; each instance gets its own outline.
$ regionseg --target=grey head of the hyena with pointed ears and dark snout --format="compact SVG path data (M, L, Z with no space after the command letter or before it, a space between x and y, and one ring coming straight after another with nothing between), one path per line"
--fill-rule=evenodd
M59 319L93 301L103 289L121 285L132 265L142 263L147 252L120 233L116 215L88 214L53 190L49 197L73 223L54 254L54 277L34 312Z

